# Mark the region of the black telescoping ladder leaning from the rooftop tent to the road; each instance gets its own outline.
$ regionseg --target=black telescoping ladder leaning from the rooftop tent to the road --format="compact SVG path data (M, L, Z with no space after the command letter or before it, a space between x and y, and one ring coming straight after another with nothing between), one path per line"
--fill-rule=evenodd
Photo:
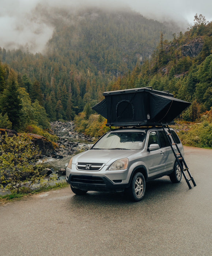
M177 146L177 143L175 142L174 136L173 136L173 134L172 134L171 131L170 131L169 125L168 125L168 124L162 124L162 128L163 128L163 131L165 132L166 137L167 137L167 139L168 139L168 141L169 141L169 143L170 143L171 149L172 149L172 151L173 151L173 153L174 153L174 156L175 156L175 158L176 158L176 160L177 160L177 163L178 163L178 165L179 165L179 167L180 167L180 169L181 169L181 172L182 172L182 174L183 174L183 176L184 176L184 178L185 178L185 180L186 180L186 182L187 182L187 184L188 184L188 186L189 186L189 189L192 189L192 186L191 186L191 184L190 184L189 181L192 181L192 182L193 182L194 187L196 186L196 183L195 183L194 178L192 177L191 173L189 172L189 168L188 168L188 166L186 165L185 159L183 158L183 156L182 156L182 154L181 154L181 152L180 152L180 150L179 150L179 148L178 148L178 146ZM165 131L165 128L168 129L168 132L169 132L169 133L167 133L167 132ZM171 142L170 137L173 139L173 142L174 142L174 143ZM177 154L175 153L173 146L175 146L175 147L177 148L177 150L178 150L178 153L177 153ZM183 163L183 164L182 164L182 163ZM183 165L185 166L185 169L183 168ZM186 171L187 171L187 173L188 173L190 179L187 178L187 176L186 176L186 174L185 174Z

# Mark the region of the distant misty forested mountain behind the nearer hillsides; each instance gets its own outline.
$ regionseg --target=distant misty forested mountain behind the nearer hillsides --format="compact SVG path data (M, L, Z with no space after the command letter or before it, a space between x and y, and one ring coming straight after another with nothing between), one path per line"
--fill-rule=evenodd
M45 54L0 49L0 59L19 73L20 86L51 120L73 119L87 102L98 101L114 78L149 58L161 31L173 37L170 27L132 11L56 9L42 15L55 27Z

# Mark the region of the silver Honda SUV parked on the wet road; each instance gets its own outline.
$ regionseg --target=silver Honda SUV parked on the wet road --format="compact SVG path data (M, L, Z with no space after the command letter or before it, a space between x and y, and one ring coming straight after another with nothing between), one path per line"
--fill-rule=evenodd
M184 156L177 134L173 129L171 133ZM160 127L113 129L90 150L71 158L67 182L77 195L126 191L133 201L139 201L149 180L168 175L174 183L181 181L182 172L170 146L174 142L168 138Z

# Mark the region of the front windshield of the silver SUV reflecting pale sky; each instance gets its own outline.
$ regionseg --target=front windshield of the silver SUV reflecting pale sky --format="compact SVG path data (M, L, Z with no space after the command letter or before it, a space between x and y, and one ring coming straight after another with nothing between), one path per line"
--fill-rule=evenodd
M92 149L139 150L143 147L144 132L111 132L103 136Z

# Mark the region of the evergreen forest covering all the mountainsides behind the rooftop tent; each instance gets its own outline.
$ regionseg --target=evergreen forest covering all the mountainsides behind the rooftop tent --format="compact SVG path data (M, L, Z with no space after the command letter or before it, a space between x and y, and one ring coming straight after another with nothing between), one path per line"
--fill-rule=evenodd
M105 120L91 106L102 93L147 86L192 102L181 119L210 123L212 22L203 15L182 33L133 11L57 11L63 19L51 20L45 52L0 48L0 128L36 132L75 120L98 137Z

